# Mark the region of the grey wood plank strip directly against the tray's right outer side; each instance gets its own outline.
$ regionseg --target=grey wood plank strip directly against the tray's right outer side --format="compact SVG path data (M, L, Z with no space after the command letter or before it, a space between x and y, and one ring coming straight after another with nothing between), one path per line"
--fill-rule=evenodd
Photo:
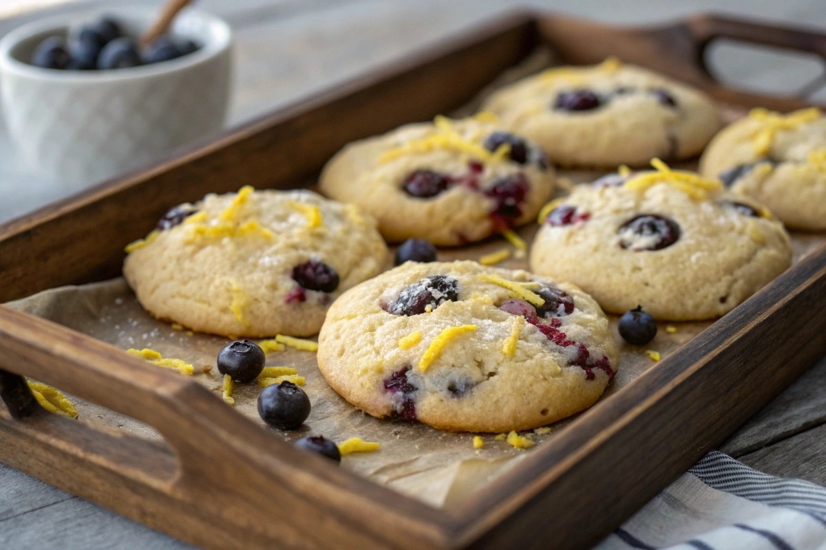
M826 358L763 407L719 450L738 458L826 423Z

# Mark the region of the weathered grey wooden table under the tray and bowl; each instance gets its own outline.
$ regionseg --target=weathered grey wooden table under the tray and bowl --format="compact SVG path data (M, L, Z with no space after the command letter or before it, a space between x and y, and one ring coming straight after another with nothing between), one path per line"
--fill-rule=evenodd
M0 35L36 15L77 9L81 2L0 2ZM112 5L116 0L83 2ZM134 2L133 2L134 3ZM230 125L300 96L352 78L367 68L439 40L496 13L506 0L202 0L200 7L224 16L237 40L235 93ZM822 0L537 0L523 6L558 9L615 23L655 23L704 10L759 16L826 30ZM23 10L23 12L21 12ZM732 48L714 53L722 77L766 92L805 84L823 71L813 59ZM826 102L826 92L816 96ZM0 128L0 222L61 196L59 185L17 166ZM826 335L824 335L826 337ZM722 449L753 468L826 485L826 358L754 416ZM181 510L186 514L186 510ZM0 464L0 548L188 548L130 519Z

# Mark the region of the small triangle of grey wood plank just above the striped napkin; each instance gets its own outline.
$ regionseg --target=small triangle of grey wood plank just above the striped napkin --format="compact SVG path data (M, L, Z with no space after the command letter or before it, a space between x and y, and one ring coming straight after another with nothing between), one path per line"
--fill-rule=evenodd
M772 476L799 477L826 485L826 425L745 454L739 460Z

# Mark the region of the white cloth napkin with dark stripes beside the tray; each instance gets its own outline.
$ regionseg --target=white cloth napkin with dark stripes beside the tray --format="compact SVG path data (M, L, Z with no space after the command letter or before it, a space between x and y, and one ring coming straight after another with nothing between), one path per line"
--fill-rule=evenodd
M713 451L595 550L826 549L826 488Z

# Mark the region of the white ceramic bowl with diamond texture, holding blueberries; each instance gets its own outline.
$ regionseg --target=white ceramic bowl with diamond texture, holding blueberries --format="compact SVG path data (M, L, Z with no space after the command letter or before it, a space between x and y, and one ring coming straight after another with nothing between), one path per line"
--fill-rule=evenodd
M181 58L108 71L31 65L45 37L112 16L140 35L158 7L112 7L34 21L0 40L0 95L8 132L27 165L78 190L221 129L230 95L232 37L216 16L187 9L173 33L201 48Z

